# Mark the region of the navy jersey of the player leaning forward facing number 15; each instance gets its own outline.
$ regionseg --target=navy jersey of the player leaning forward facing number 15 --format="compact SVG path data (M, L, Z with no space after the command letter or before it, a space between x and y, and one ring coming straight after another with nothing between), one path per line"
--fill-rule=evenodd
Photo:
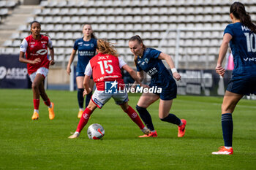
M166 81L173 80L173 76L166 69L162 60L158 57L162 53L154 48L146 48L144 50L143 56L140 58L138 56L137 72L144 71L151 77L151 82L154 85L165 85ZM174 81L174 80L173 80Z

